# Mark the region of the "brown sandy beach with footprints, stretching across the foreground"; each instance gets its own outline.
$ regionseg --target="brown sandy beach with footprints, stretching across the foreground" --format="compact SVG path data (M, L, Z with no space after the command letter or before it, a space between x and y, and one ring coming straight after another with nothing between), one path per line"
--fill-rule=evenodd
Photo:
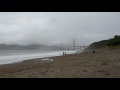
M120 78L120 50L91 51L0 65L0 78Z

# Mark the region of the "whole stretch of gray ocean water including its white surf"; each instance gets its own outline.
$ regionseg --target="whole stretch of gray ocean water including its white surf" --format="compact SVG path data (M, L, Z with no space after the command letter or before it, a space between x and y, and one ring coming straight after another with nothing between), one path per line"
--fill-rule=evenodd
M82 51L39 51L39 50L0 50L0 65L22 62L23 60L62 56L66 54L81 53Z

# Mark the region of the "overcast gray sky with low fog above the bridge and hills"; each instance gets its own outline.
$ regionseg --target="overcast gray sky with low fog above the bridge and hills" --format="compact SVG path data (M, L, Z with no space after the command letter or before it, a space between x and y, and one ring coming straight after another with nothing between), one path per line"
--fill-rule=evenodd
M120 12L0 12L0 44L85 45L120 35Z

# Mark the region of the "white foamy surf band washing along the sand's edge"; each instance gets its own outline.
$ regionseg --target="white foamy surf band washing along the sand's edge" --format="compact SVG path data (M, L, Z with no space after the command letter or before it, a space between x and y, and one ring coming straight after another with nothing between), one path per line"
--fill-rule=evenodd
M67 54L73 54L73 53L77 53L78 51L63 51L66 52ZM37 59L37 58L47 58L47 57L56 57L56 56L62 56L63 52L51 52L51 53L42 53L42 54L32 54L31 55L16 55L14 56L3 56L3 58L0 59L0 65L6 65L6 64L12 64L12 63L19 63L19 62L23 62L25 60L30 60L30 59ZM4 61L4 58L5 61Z

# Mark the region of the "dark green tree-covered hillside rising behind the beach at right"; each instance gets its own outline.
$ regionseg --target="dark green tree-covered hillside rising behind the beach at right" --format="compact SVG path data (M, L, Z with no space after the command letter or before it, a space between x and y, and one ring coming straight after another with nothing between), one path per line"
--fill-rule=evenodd
M120 48L120 36L115 35L114 38L94 42L89 45L87 50L93 49L118 49Z

